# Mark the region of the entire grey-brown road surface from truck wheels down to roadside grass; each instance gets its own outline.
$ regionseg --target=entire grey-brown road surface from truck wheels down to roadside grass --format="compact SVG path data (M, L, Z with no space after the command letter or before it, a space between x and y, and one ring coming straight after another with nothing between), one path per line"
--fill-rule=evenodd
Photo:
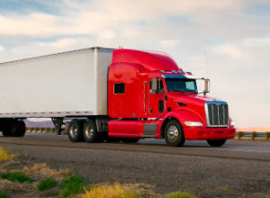
M21 154L22 165L71 168L92 184L151 184L157 193L182 190L198 197L270 197L270 142L232 139L211 148L205 141L187 141L172 148L158 139L88 144L64 135L28 134L0 136L0 146Z

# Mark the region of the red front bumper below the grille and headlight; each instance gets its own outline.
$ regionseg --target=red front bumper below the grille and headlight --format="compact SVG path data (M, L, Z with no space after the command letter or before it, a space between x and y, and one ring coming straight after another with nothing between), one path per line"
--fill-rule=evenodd
M184 127L185 139L233 139L235 128Z

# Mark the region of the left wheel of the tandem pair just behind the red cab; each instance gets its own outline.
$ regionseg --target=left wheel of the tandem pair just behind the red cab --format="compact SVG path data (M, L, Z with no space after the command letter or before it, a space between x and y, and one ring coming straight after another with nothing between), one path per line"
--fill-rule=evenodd
M67 125L67 134L70 141L78 142L84 140L83 122L72 120Z

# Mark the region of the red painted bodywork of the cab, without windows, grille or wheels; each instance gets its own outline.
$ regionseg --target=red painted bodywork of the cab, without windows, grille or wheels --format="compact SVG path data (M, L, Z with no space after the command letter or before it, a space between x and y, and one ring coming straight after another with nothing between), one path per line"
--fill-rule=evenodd
M175 61L164 53L115 49L108 76L108 114L112 118L112 121L109 121L109 136L143 137L144 124L154 123L157 124L157 133L154 137L159 139L163 136L165 121L175 119L180 122L186 139L233 138L234 128L207 127L204 104L213 98L202 94L166 91L163 75L175 75L175 71L183 72ZM149 82L152 78L160 78L164 85L164 93L150 93ZM125 93L114 94L114 85L121 83L124 83ZM164 112L158 110L160 101L164 103ZM178 102L186 105L180 106ZM149 118L152 120L148 120ZM200 121L203 126L186 127L184 121Z

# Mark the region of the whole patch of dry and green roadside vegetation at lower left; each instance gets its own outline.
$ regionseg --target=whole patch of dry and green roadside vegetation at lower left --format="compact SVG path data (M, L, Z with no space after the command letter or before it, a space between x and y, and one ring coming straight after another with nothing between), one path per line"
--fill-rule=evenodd
M69 169L54 170L46 164L23 166L14 153L0 147L0 198L193 198L189 193L157 194L149 184L87 184Z

